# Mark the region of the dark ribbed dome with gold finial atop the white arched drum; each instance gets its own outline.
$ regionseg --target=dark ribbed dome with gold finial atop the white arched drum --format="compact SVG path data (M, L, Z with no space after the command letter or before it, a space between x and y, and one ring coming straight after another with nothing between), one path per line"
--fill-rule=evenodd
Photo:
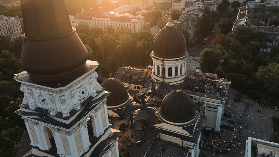
M174 27L169 18L169 23L162 28L153 40L153 55L159 58L180 58L188 55L186 40L183 33Z

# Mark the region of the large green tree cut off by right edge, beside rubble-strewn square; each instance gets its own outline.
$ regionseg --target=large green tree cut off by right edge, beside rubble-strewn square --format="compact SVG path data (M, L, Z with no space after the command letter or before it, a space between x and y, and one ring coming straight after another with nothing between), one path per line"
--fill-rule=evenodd
M267 67L259 67L256 79L263 84L271 95L279 94L279 64L270 63Z

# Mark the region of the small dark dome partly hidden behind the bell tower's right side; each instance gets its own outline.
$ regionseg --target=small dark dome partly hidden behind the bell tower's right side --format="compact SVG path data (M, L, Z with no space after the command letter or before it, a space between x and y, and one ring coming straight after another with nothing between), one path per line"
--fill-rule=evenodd
M107 97L107 106L109 107L124 104L129 98L124 84L117 79L107 79L101 87L105 88L105 91L111 92Z

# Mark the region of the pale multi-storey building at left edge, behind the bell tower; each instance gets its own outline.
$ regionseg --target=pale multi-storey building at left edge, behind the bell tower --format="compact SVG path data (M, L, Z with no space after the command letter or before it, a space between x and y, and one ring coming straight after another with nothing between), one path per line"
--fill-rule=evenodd
M0 35L9 35L14 42L16 38L21 36L22 28L19 17L6 17L0 15Z

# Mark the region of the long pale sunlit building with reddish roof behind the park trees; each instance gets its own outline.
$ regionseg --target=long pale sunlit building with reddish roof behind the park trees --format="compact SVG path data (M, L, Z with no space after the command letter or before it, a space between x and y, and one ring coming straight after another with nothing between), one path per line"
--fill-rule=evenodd
M104 16L87 15L83 13L81 15L70 15L69 16L71 25L73 27L78 26L79 22L86 22L90 28L102 28L106 32L107 26L112 26L115 31L118 30L119 26L130 28L133 33L139 33L144 29L144 20L139 17L135 17L129 13L115 13L110 12Z

